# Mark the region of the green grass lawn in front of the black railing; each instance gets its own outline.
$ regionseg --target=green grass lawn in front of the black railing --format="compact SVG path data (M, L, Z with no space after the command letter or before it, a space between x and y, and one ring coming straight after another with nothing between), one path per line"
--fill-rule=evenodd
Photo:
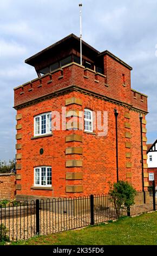
M36 236L12 245L157 245L157 212L80 230Z

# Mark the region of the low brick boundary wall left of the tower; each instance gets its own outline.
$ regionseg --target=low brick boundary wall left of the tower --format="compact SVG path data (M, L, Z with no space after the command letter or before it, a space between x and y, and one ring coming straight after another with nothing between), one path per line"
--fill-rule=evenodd
M0 174L0 200L15 198L15 174L1 173Z

